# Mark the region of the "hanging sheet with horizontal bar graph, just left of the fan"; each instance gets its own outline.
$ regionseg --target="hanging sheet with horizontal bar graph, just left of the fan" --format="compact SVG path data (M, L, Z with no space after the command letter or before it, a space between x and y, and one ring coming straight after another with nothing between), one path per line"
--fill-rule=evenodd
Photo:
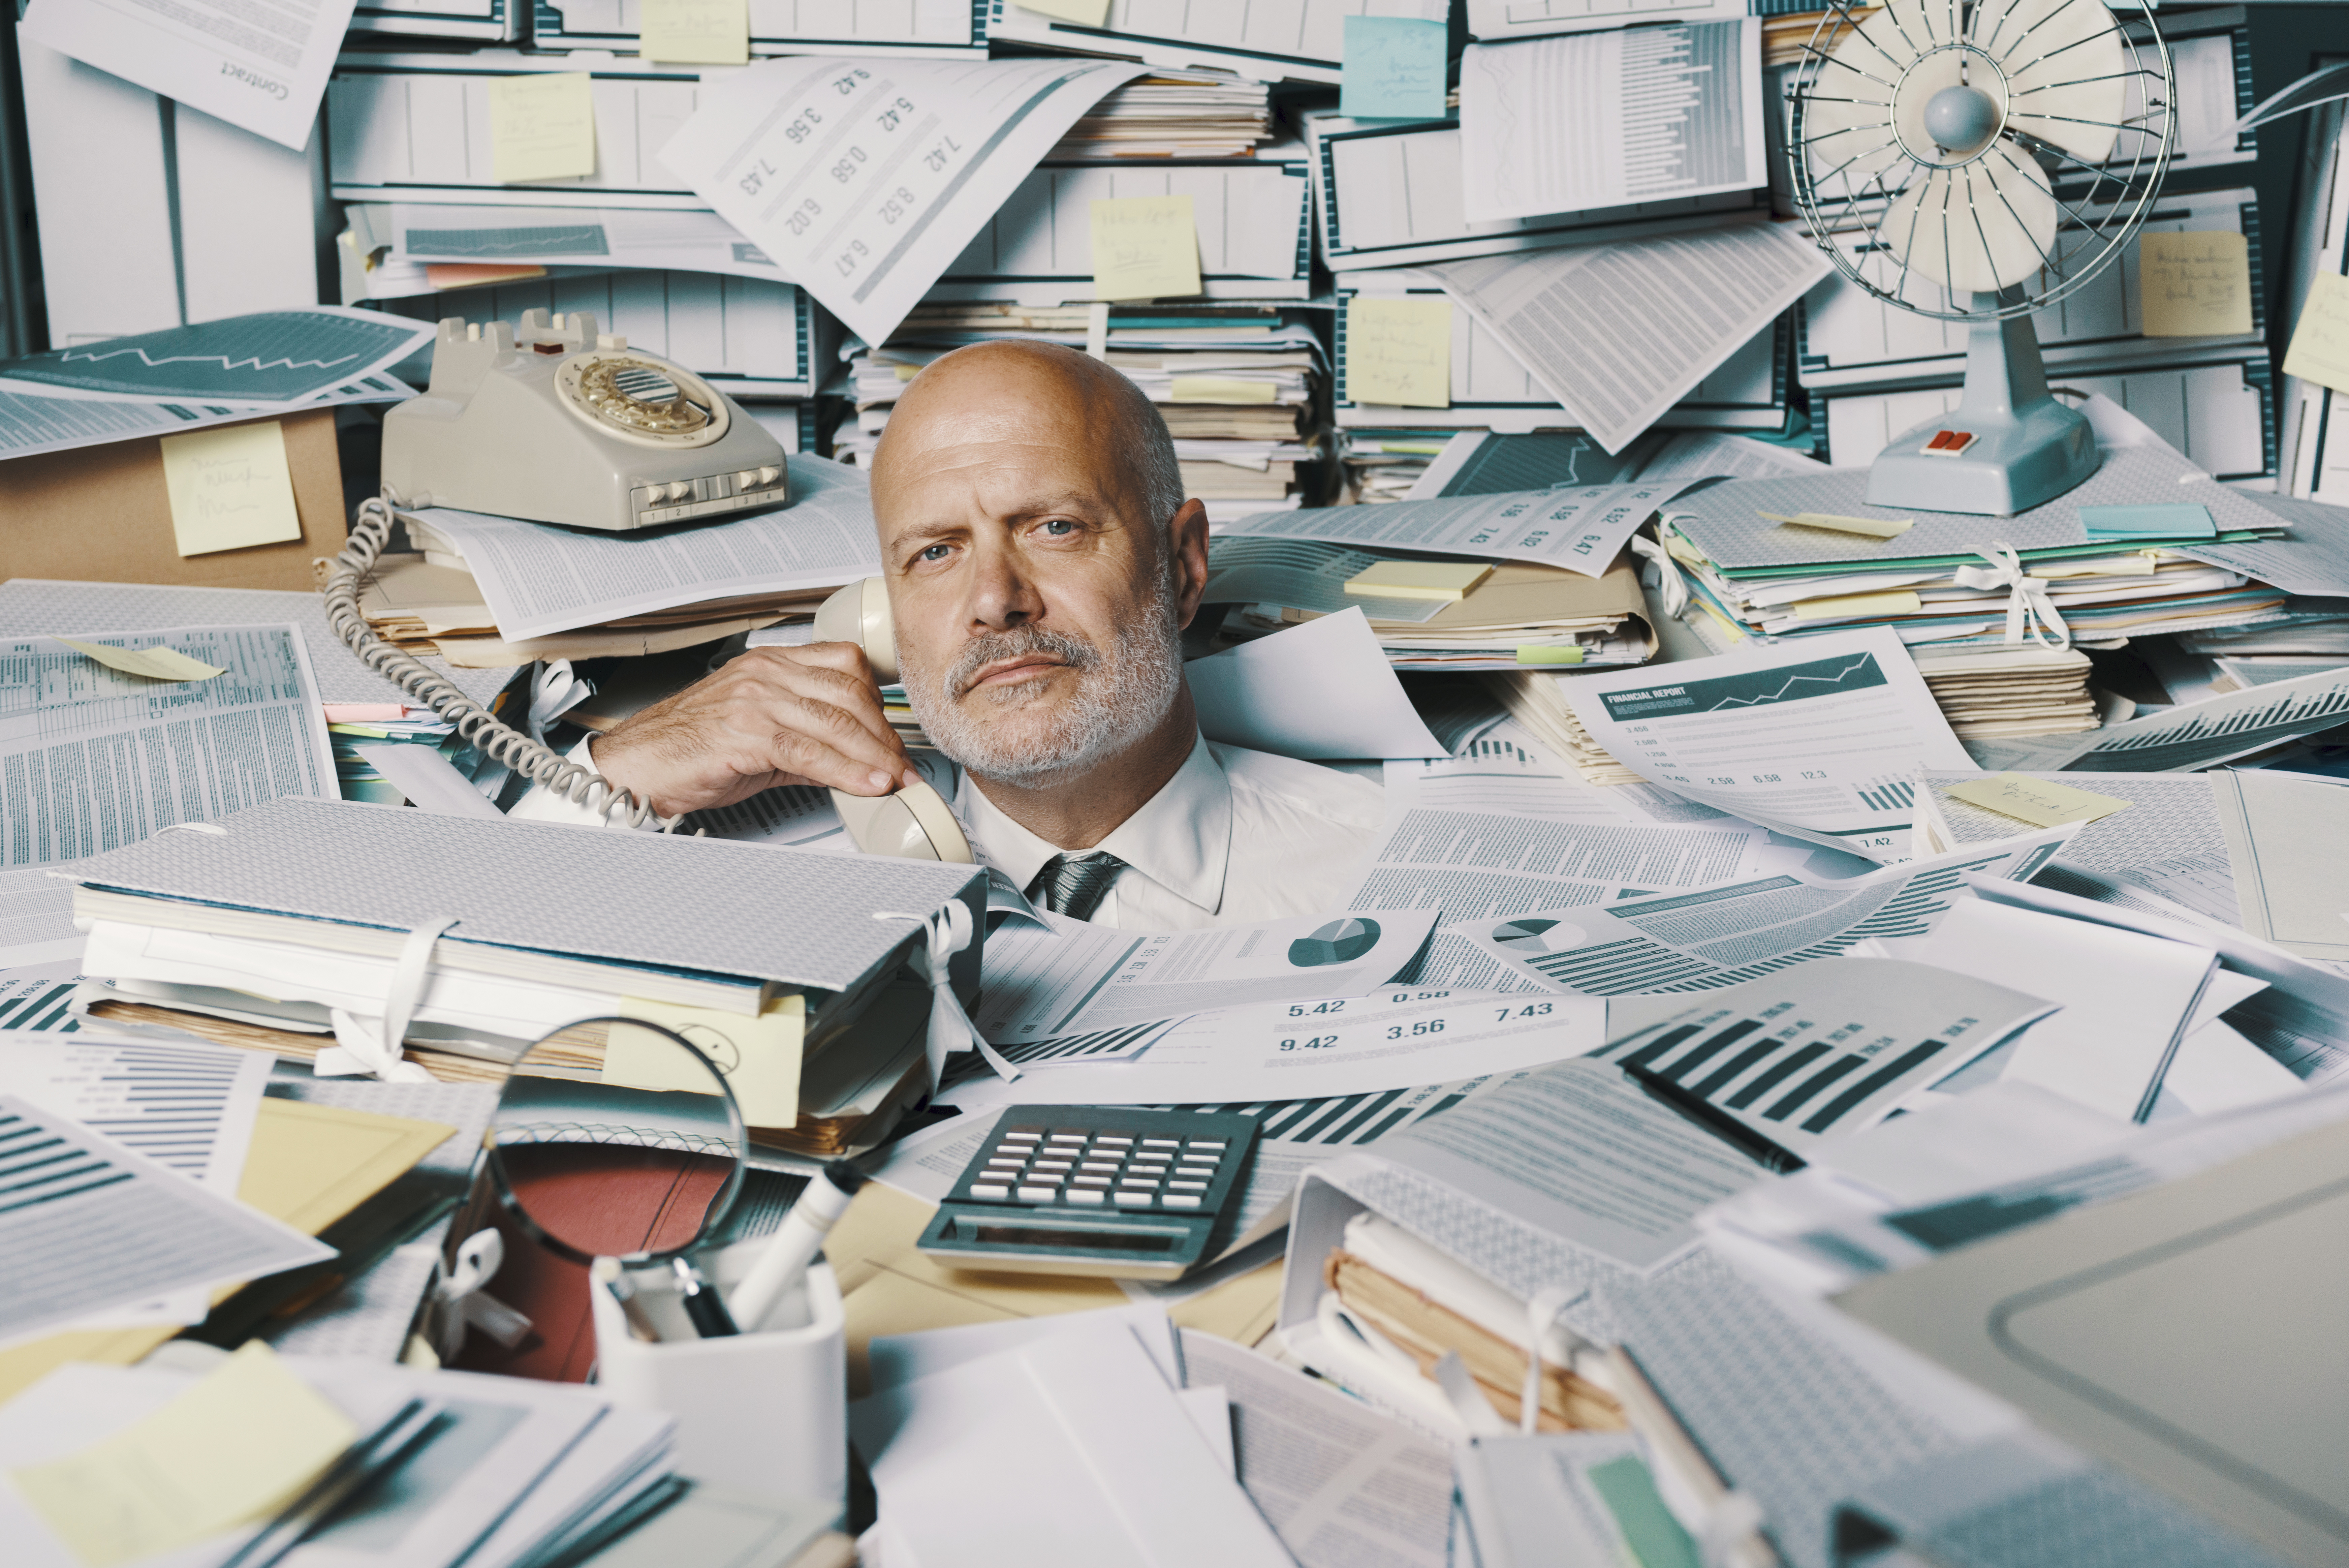
M1470 45L1461 172L1470 221L1764 186L1762 24Z

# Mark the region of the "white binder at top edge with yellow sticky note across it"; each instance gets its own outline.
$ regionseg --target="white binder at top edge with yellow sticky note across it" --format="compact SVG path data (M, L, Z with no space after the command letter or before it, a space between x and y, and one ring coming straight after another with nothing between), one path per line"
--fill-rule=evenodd
M519 0L491 0L505 5ZM615 49L634 54L644 0L536 0L533 47ZM916 59L987 59L994 0L749 0L749 52L761 54L907 54Z

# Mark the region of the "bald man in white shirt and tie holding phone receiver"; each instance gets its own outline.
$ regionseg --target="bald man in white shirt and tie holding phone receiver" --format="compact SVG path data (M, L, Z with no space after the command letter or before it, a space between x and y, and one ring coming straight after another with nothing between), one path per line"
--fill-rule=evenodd
M897 400L871 501L907 701L987 865L1043 907L1153 931L1344 898L1384 792L1200 738L1179 639L1207 508L1132 381L1050 343L958 348ZM580 759L665 816L921 778L846 642L752 649ZM585 813L540 790L514 816Z

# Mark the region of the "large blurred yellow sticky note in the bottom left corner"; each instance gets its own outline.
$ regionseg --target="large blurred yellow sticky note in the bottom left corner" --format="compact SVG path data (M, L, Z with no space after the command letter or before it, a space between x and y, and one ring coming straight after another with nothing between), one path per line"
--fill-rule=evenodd
M359 1432L263 1340L146 1420L9 1479L89 1568L113 1568L277 1514Z

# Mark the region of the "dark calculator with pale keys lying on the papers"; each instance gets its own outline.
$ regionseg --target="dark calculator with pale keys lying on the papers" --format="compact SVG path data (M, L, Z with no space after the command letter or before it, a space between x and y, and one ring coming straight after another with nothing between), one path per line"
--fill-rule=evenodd
M961 1269L1179 1279L1238 1213L1257 1119L1012 1105L921 1251Z

